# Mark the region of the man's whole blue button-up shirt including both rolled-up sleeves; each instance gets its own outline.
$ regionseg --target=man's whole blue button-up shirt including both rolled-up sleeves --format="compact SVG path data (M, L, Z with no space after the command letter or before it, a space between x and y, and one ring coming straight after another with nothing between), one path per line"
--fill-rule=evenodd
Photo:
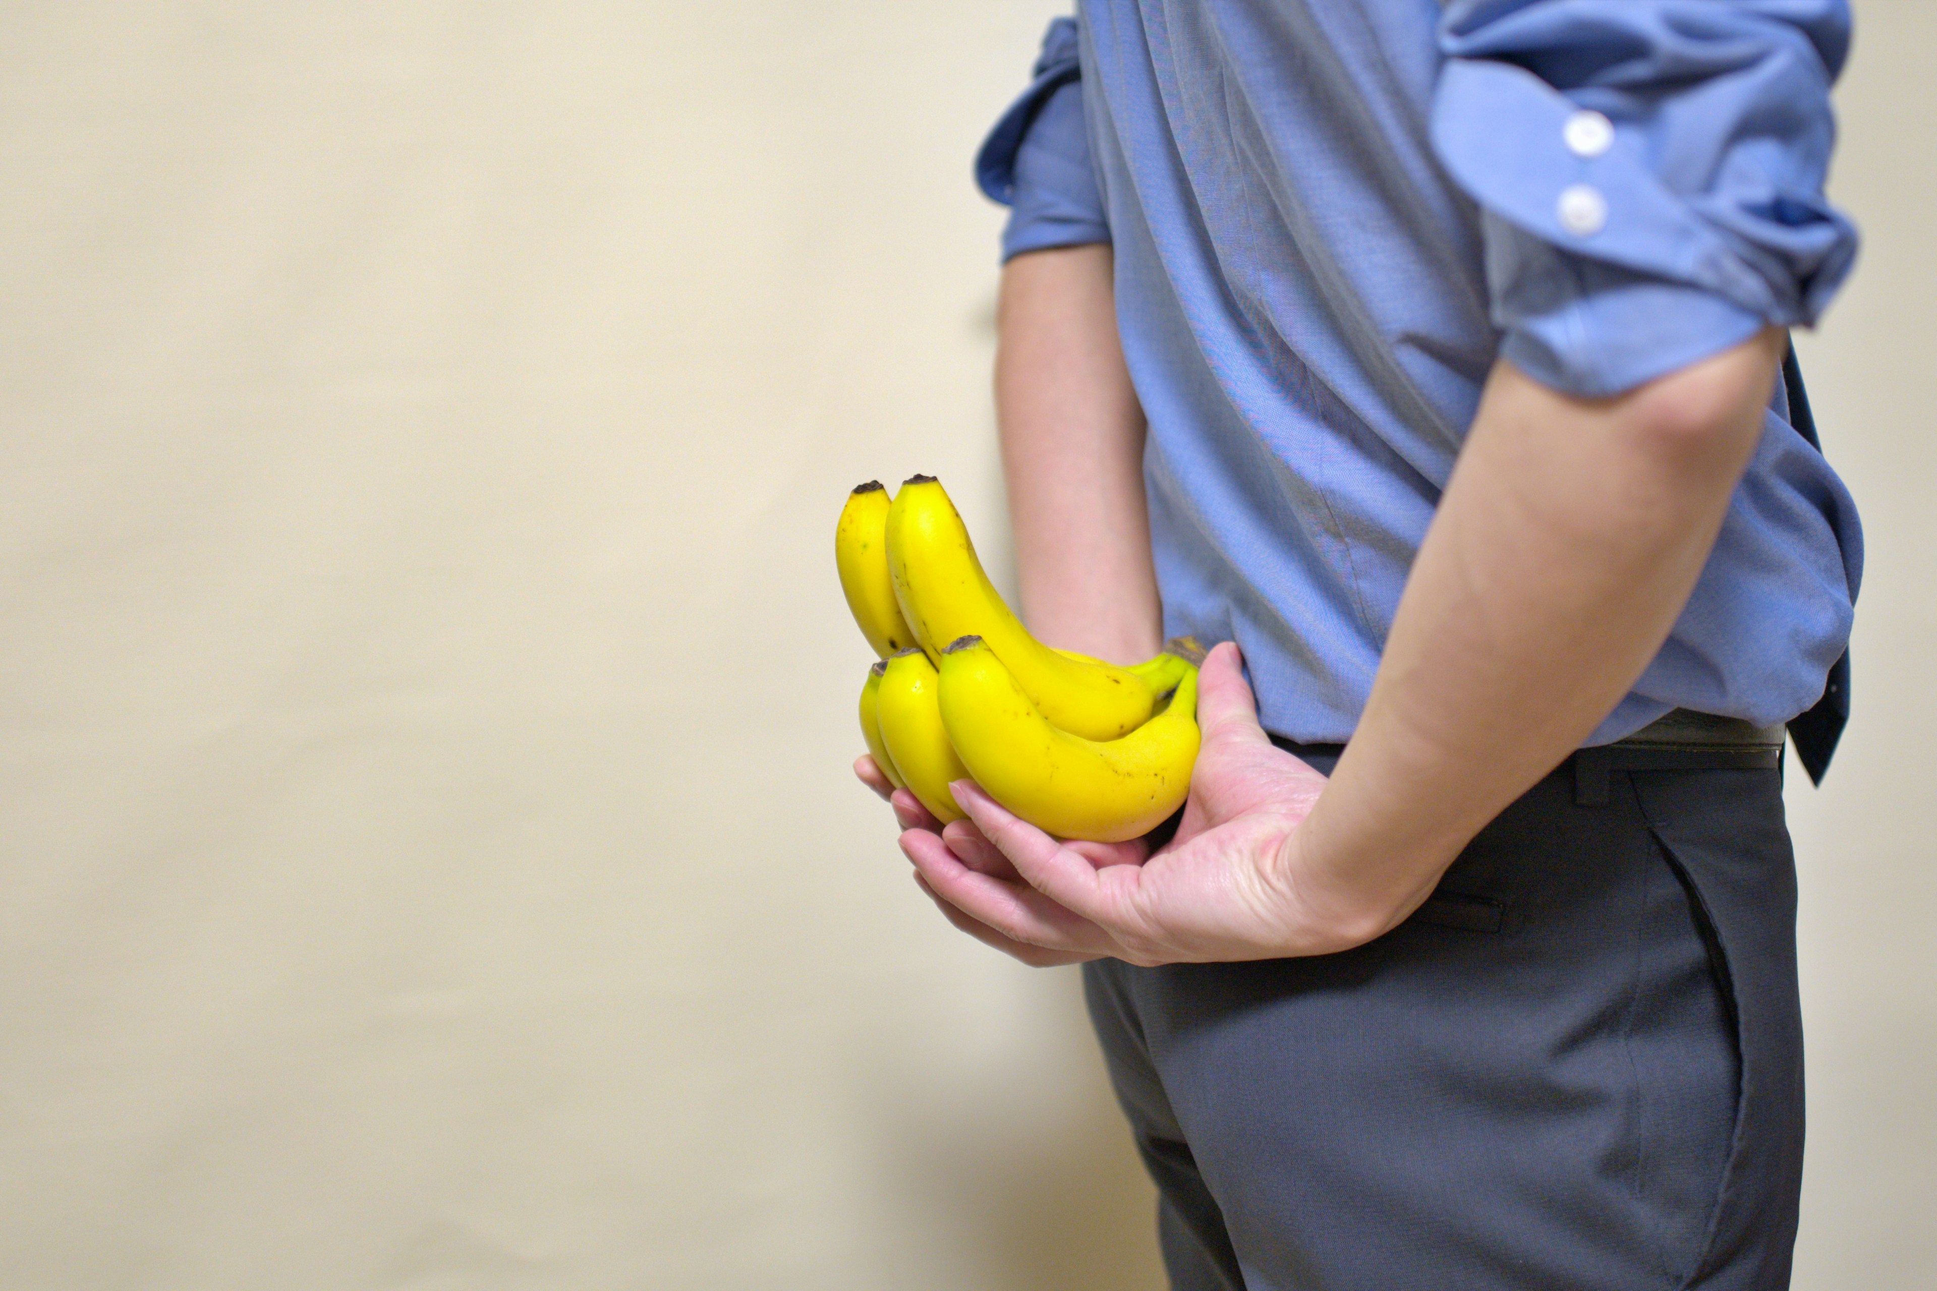
M1813 323L1842 0L1083 0L978 157L1005 255L1112 242L1164 631L1342 741L1480 385L1612 395ZM1594 732L1774 724L1850 635L1861 532L1774 393L1668 645Z

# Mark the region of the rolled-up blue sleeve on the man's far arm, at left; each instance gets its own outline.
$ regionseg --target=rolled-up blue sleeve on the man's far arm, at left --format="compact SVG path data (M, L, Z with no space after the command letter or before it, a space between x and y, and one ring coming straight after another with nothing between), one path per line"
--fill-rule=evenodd
M976 153L976 184L1009 207L1003 259L1110 240L1083 122L1079 39L1073 17L1050 23L1029 89Z

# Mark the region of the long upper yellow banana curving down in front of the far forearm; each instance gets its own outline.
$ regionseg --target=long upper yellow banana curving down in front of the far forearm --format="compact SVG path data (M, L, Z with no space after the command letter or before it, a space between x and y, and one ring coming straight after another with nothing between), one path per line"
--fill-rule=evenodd
M914 641L939 664L957 637L982 637L1050 724L1091 739L1143 726L1156 703L1127 668L1052 650L1023 627L982 571L968 526L932 476L914 476L887 509L887 569ZM1153 660L1154 662L1154 660Z

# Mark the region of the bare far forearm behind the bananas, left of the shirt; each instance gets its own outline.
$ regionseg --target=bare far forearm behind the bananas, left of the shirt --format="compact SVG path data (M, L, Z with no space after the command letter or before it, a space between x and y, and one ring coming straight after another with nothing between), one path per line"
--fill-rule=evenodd
M1046 643L1135 662L1162 615L1143 497L1143 408L1108 246L1017 255L998 310L996 420L1023 617Z

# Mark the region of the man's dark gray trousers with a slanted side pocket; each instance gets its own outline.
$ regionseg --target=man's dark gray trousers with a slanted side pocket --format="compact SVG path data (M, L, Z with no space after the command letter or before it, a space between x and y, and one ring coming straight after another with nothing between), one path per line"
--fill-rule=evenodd
M1788 1285L1782 772L1598 780L1548 776L1356 950L1085 966L1174 1287Z

